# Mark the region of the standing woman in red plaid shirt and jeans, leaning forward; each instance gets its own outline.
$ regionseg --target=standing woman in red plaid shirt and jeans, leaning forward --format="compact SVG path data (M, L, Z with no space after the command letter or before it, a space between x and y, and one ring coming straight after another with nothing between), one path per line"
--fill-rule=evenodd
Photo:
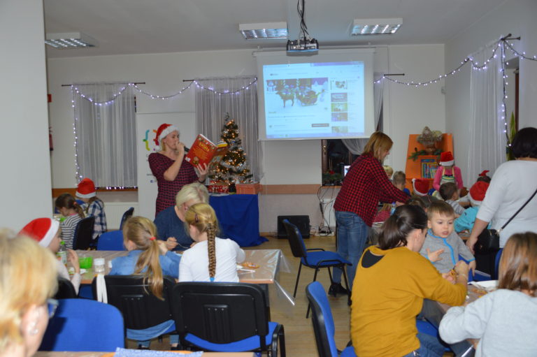
M338 254L348 259L350 287L355 279L368 231L377 213L378 202L406 203L408 196L388 180L382 161L392 149L393 141L385 133L375 131L364 147L364 152L350 166L336 197L334 210L338 224ZM329 293L346 293L341 286L341 269L334 268L334 284Z

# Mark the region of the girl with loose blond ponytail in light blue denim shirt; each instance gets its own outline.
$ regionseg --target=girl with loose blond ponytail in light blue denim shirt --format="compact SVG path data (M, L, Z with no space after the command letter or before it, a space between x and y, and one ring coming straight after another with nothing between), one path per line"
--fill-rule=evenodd
M177 279L180 257L169 252L166 243L157 240L157 228L145 217L131 217L123 226L123 243L129 254L112 261L110 275L142 275L150 286L150 292L162 299L162 276ZM144 330L127 328L127 338L138 341L138 349L149 349L150 340L166 333L173 320L160 323ZM171 347L177 347L178 335L170 335Z

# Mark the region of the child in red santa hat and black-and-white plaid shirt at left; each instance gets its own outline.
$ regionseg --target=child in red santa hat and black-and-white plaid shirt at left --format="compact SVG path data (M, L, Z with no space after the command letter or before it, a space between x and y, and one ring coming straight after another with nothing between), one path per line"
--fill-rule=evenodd
M103 201L96 196L95 184L93 181L84 177L83 180L78 183L75 196L84 201L82 210L86 214L86 217L95 217L93 240L96 240L99 238L99 235L106 232L106 214L104 213Z

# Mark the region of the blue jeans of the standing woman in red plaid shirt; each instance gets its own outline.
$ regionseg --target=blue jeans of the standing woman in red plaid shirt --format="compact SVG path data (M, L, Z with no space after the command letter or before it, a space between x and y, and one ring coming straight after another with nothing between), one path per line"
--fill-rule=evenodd
M349 288L352 289L352 281L355 279L356 268L361 254L364 252L369 227L358 214L352 212L336 211L338 223L338 254L352 263L347 265L347 278ZM343 271L334 268L334 282L341 282Z

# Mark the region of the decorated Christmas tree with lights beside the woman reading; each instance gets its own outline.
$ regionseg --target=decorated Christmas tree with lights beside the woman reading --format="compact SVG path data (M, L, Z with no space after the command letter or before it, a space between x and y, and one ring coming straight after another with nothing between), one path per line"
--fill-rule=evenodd
M222 161L210 168L209 177L213 182L225 184L247 182L252 174L246 163L246 155L241 146L241 138L238 137L238 125L234 119L226 113L224 117L224 128L220 135L220 140L225 141L229 147L227 154L222 157Z

